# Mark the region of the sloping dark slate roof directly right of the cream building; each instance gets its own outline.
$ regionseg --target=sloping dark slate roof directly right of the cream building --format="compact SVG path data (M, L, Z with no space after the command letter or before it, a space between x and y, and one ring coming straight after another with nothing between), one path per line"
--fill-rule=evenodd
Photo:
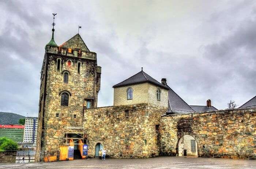
M195 112L177 93L175 93L171 88L168 91L168 102L169 109L167 113L172 111L173 113L189 113Z

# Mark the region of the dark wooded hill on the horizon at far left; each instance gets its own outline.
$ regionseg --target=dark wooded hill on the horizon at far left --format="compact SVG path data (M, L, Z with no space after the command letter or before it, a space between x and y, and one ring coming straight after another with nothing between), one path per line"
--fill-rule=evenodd
M24 119L25 116L15 113L0 112L0 124L19 124L19 119Z

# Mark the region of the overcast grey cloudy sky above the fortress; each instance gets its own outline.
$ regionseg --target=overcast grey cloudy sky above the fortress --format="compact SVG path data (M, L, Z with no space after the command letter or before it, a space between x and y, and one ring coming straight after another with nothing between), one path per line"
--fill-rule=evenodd
M190 105L225 109L256 95L256 1L0 0L0 111L38 115L52 13L60 45L77 34L102 66L99 106L143 70Z

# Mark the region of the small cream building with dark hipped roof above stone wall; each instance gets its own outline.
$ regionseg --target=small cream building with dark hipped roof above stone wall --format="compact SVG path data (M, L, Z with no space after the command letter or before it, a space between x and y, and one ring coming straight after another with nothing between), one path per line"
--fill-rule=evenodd
M167 85L162 84L141 70L139 73L116 84L114 88L114 106L149 103L168 107Z

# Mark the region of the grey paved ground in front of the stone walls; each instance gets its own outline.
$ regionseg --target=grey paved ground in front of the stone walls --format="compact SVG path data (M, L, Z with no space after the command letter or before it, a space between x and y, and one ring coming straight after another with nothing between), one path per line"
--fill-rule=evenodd
M97 158L25 164L0 164L1 169L256 169L256 160L156 157L148 159Z

